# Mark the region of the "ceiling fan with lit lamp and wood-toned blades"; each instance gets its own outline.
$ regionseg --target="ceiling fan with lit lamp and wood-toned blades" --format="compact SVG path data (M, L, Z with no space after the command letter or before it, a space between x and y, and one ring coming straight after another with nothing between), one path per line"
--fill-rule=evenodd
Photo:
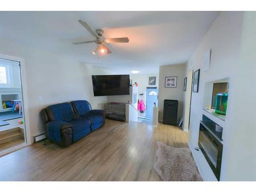
M89 40L89 41L73 42L73 44L80 45L80 44L89 44L91 42L95 42L97 45L97 48L93 51L93 54L96 55L98 53L98 57L100 54L103 55L104 53L107 53L107 54L112 53L111 50L105 45L105 43L129 42L128 37L104 38L102 37L102 34L104 33L102 29L96 29L96 31L94 31L86 22L82 20L78 20L78 22L84 28L86 28L94 37L96 37L96 39Z

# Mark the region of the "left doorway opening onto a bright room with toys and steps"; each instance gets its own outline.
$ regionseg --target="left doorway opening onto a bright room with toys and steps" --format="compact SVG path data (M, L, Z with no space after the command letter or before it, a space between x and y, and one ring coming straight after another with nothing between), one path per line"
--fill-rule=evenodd
M0 154L26 144L20 62L0 58Z

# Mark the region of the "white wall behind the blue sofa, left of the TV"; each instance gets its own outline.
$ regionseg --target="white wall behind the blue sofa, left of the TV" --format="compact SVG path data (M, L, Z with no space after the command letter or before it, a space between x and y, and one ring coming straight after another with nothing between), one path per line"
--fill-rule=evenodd
M91 75L108 71L5 39L0 39L0 53L25 60L31 136L44 132L39 112L50 104L86 99L97 109L106 102L93 96Z

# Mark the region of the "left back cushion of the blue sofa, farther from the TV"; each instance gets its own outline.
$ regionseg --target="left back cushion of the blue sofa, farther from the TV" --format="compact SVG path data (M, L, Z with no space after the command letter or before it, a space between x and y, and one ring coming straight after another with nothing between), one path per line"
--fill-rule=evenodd
M53 104L47 107L47 114L51 121L71 121L75 118L73 108L70 103Z

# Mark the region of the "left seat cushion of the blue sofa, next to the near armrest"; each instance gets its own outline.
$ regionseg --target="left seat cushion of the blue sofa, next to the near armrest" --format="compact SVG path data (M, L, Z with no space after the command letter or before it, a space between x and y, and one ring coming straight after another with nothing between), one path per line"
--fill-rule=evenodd
M77 141L88 134L90 134L90 125L91 122L89 119L74 119L72 121L69 121L69 123L73 126L73 141Z

